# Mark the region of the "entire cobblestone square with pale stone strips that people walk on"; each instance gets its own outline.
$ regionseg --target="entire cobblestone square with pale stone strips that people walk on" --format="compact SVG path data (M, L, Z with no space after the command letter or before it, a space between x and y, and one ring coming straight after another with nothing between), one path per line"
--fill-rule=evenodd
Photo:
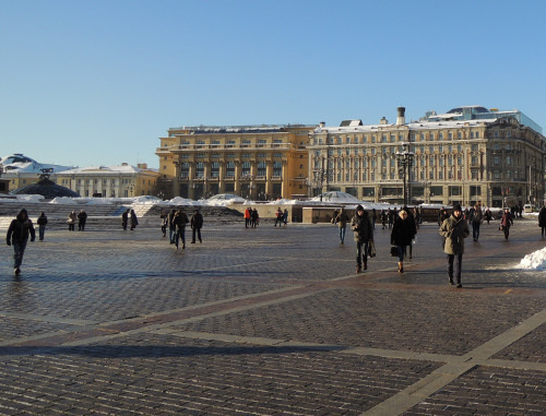
M462 289L436 224L403 274L380 228L360 274L331 225L51 229L19 277L2 246L0 414L546 414L535 221L467 239Z

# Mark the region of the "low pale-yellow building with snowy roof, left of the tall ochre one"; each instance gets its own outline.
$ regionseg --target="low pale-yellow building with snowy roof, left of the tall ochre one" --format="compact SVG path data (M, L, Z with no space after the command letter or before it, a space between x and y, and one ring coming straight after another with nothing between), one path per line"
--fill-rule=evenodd
M157 195L156 169L146 164L130 166L88 166L64 170L56 175L57 185L78 192L81 197L131 198Z

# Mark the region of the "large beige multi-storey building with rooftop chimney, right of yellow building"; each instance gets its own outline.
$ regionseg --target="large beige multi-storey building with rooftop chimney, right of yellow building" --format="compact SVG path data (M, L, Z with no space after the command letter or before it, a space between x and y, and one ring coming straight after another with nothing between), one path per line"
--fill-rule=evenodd
M370 202L403 202L403 143L413 161L408 203L541 205L545 138L513 117L395 123L321 123L309 144L310 193L345 191Z

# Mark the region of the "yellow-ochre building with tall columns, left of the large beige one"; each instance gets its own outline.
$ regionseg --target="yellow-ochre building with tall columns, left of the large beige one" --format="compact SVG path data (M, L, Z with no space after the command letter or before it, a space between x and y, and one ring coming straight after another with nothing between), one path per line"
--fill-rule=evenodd
M155 152L158 188L166 198L305 197L312 129L302 124L171 128L159 138Z

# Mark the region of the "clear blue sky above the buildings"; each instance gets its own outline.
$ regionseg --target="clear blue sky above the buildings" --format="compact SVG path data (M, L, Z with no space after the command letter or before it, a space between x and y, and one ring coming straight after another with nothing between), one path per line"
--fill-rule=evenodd
M461 105L546 128L544 1L0 0L0 156L146 162L171 127Z

